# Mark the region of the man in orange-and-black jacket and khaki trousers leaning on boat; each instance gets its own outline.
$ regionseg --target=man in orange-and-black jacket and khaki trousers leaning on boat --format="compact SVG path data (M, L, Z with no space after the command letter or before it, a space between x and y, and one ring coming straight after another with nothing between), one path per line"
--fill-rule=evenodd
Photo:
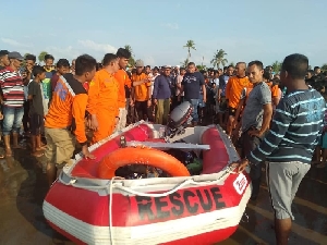
M88 151L85 134L85 109L87 93L83 87L92 81L96 72L96 60L87 54L76 59L75 74L66 73L59 77L51 105L46 115L45 136L47 149L47 177L53 183L65 163L71 163L75 150L75 139L82 146L85 158L94 159Z

